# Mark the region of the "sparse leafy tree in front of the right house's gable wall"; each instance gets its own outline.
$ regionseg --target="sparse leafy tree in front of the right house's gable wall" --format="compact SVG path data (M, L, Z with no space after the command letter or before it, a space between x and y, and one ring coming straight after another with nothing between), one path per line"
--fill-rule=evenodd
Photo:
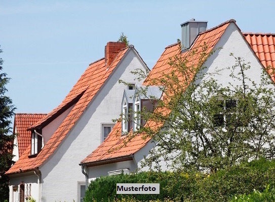
M136 133L158 142L144 165L160 169L165 161L173 169L215 172L259 157L273 159L275 88L266 71L256 83L247 76L250 64L231 54L236 63L227 69L234 82L223 86L215 79L221 69L205 73L202 65L213 52L206 52L206 44L201 48L171 58L169 73L147 77L164 96L152 113L139 112L146 124Z

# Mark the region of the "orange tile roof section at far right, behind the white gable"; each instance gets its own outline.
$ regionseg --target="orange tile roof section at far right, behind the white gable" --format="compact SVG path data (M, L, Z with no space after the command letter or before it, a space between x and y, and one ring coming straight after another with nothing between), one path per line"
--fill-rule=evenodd
M243 33L256 56L275 82L275 34Z

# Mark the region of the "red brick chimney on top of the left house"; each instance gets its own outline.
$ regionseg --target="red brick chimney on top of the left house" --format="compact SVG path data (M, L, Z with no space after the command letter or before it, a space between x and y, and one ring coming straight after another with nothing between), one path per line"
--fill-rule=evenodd
M116 55L125 47L126 44L124 42L107 42L105 45L105 64L107 67L112 64Z

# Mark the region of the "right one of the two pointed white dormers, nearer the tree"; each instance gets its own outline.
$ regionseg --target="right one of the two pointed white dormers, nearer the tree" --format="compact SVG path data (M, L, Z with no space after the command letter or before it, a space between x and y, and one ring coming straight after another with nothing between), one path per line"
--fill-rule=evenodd
M143 110L152 112L161 96L162 90L158 86L136 86L133 96L133 131L145 124L141 117Z

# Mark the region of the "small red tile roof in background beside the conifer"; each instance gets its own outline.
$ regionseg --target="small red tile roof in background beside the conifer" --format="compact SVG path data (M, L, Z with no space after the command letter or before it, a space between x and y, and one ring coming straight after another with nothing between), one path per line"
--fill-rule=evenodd
M15 114L13 132L15 133L16 127L19 158L30 144L31 132L27 131L27 129L46 115L47 114Z

